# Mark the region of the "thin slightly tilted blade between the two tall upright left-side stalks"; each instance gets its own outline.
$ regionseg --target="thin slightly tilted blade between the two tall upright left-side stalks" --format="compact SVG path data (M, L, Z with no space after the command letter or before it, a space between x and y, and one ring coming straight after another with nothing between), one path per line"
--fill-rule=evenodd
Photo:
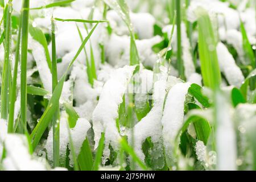
M18 75L18 64L19 64L19 54L20 54L20 39L21 39L21 21L19 22L19 32L18 32L18 40L16 44L16 52L15 52L15 64L13 71L13 80L11 82L11 90L10 90L10 105L9 105L9 118L8 118L8 133L13 133L14 131L14 109L15 109L15 101L16 101L16 84L17 84L17 75Z

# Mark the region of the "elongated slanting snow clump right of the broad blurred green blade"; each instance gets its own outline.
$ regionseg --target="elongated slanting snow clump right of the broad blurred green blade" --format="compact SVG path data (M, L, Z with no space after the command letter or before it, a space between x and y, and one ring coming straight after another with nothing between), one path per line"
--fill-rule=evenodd
M240 88L245 78L241 69L236 65L232 54L229 53L228 48L223 43L218 43L216 50L220 69L224 72L229 84Z

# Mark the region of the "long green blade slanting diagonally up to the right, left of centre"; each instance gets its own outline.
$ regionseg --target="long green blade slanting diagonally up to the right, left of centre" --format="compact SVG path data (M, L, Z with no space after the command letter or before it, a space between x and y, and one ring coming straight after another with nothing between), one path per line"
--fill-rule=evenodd
M55 113L55 111L57 110L57 108L59 106L59 100L60 100L61 92L63 89L63 84L64 84L64 81L65 81L65 78L67 76L69 69L71 69L73 63L76 61L77 57L81 53L85 44L88 42L90 36L92 35L92 33L95 30L95 28L97 27L97 25L98 25L98 23L92 28L92 30L89 32L88 36L86 36L86 38L82 42L79 50L77 51L76 55L73 57L71 63L69 63L69 66L68 66L66 72L60 78L58 84L55 87L55 90L52 94L51 99L49 100L49 104L48 104L46 110L44 111L44 113L43 113L40 121L36 125L35 129L32 131L31 140L32 140L32 146L34 149L38 145L40 138L42 137L44 131L47 129L47 126L48 126L49 122L51 121L53 114Z

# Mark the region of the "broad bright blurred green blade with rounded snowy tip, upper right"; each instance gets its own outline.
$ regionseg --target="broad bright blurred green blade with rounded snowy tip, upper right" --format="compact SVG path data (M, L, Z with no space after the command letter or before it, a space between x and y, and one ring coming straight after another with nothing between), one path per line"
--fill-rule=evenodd
M220 67L216 52L216 38L210 17L203 8L196 10L199 32L199 57L204 85L217 89L221 83Z

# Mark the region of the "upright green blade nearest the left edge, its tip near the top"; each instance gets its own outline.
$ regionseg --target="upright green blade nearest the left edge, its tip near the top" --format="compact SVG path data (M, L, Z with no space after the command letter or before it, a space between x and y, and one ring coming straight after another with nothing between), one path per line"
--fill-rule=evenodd
M1 85L1 118L7 119L9 106L9 86L10 86L10 51L11 51L11 1L5 7L5 55L2 72Z

